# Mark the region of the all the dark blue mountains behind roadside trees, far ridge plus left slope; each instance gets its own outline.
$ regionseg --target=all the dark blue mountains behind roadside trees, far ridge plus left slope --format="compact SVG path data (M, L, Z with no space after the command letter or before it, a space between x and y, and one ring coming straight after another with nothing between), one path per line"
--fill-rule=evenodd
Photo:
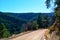
M27 23L29 21L36 21L39 13L5 13L0 12L0 22L4 23L7 29L11 34L19 33L22 24ZM44 17L46 13L42 13L42 17ZM53 17L54 13L48 14L50 18Z

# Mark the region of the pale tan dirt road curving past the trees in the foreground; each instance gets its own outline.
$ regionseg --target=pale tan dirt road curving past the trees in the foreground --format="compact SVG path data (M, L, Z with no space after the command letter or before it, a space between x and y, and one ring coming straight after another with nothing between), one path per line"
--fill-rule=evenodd
M45 31L47 31L47 29L36 30L10 40L46 40L44 37Z

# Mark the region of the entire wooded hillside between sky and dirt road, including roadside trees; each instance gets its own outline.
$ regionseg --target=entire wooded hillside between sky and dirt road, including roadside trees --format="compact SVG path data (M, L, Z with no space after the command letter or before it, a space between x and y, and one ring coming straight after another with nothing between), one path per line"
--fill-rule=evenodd
M5 25L6 29L9 31L9 34L12 35L12 34L18 34L27 30L47 28L51 26L52 23L54 22L53 16L54 16L53 13L0 12L0 24ZM49 21L47 21L48 19Z

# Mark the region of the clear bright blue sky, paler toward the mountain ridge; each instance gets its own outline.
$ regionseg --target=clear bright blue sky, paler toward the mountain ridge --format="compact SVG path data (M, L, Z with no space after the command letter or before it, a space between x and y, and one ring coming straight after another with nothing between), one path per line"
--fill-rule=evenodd
M47 9L45 0L0 0L2 12L52 12Z

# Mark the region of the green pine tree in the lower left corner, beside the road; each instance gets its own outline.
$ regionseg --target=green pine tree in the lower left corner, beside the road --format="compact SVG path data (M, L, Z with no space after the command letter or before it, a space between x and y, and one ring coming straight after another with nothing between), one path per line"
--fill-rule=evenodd
M7 30L6 26L3 23L0 23L0 38L6 38L10 36L9 31Z

